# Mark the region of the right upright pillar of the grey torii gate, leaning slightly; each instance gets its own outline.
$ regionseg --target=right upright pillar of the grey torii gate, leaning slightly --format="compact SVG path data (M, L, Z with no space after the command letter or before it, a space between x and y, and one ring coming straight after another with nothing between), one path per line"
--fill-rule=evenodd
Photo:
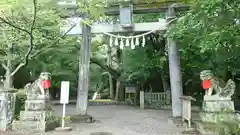
M174 19L175 11L173 7L168 9L168 21ZM169 73L171 83L171 95L172 95L172 116L182 116L182 102L180 97L183 95L182 89L182 75L180 69L180 56L176 42L168 37L168 60L169 60Z

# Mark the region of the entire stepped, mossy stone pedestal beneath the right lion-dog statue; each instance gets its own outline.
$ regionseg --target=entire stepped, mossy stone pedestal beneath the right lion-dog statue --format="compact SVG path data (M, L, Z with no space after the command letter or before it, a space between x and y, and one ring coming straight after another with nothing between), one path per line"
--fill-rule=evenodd
M203 135L227 135L230 129L224 123L236 121L234 103L231 100L204 97L201 121L197 122L197 130Z

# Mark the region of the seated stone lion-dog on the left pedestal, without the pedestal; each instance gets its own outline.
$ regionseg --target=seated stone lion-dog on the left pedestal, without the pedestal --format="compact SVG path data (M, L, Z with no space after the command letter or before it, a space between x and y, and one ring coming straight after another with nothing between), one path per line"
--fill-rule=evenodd
M36 99L49 99L49 90L44 88L43 82L50 80L51 74L48 72L42 72L37 80L32 84L28 83L24 87L27 100L36 100Z

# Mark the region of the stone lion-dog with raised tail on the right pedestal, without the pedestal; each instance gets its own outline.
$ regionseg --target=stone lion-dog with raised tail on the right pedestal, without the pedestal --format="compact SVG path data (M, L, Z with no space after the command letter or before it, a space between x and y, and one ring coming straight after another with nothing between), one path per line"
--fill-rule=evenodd
M213 92L215 97L231 99L235 93L236 85L233 80L229 79L226 84L222 80L213 76L211 70L204 70L200 73L200 79L205 82L209 82L209 87L205 88L205 95L212 96Z

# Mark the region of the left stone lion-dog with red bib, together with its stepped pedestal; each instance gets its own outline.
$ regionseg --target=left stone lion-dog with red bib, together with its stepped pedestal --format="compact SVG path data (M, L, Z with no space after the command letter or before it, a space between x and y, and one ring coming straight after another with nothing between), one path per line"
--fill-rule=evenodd
M14 130L45 132L58 126L58 118L50 103L50 76L50 73L42 72L37 80L25 86L25 110L20 111L19 121L13 124Z

